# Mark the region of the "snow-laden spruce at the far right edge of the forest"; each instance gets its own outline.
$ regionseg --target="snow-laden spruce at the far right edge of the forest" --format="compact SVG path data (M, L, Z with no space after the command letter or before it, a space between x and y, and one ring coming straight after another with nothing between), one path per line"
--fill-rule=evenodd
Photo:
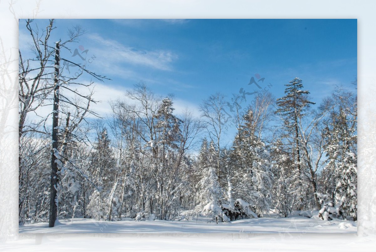
M323 132L328 157L323 180L338 214L357 220L356 95L338 91L332 98L337 106L333 107Z

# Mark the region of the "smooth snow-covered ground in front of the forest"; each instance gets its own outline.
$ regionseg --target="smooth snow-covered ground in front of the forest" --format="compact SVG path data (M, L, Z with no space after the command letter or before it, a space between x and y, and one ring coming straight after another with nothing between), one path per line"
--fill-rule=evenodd
M209 219L208 219L209 220ZM106 222L76 218L60 221L54 228L48 223L20 226L20 233L356 233L356 222L334 219L323 221L293 216L289 218L263 217L237 220L231 223L207 222L206 218L181 221L122 221Z

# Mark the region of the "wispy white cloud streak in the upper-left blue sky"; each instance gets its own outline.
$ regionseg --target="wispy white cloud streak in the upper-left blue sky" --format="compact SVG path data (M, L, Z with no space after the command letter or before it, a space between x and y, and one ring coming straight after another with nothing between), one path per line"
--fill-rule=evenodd
M130 64L170 71L171 63L178 58L169 50L139 50L112 39L105 39L98 34L89 34L88 37L96 42L96 53L100 53L113 64Z

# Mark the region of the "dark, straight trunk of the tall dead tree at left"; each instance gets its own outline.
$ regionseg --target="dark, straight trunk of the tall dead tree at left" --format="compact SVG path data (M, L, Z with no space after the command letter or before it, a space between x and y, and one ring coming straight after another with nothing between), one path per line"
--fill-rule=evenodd
M60 49L59 42L55 47L55 78L54 78L54 94L53 94L53 118L52 118L52 151L51 151L51 185L50 185L50 221L49 227L55 226L58 215L57 202L57 186L58 186L58 123L59 123L59 64Z

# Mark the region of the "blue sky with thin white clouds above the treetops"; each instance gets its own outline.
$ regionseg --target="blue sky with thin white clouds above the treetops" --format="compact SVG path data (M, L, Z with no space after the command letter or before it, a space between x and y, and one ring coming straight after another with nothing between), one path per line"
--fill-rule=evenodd
M47 25L47 20L35 22ZM28 43L24 23L20 20L21 52ZM88 49L86 56L95 58L87 68L112 79L97 84L100 113L108 110L109 99L140 81L157 94L173 93L177 113L188 106L199 114L199 103L210 94L255 90L247 84L257 73L265 78L261 86L273 85L269 91L276 98L299 77L317 103L335 85L351 88L357 75L356 19L67 19L55 24L51 41L64 40L74 25L85 29L79 43L71 44L72 53Z

